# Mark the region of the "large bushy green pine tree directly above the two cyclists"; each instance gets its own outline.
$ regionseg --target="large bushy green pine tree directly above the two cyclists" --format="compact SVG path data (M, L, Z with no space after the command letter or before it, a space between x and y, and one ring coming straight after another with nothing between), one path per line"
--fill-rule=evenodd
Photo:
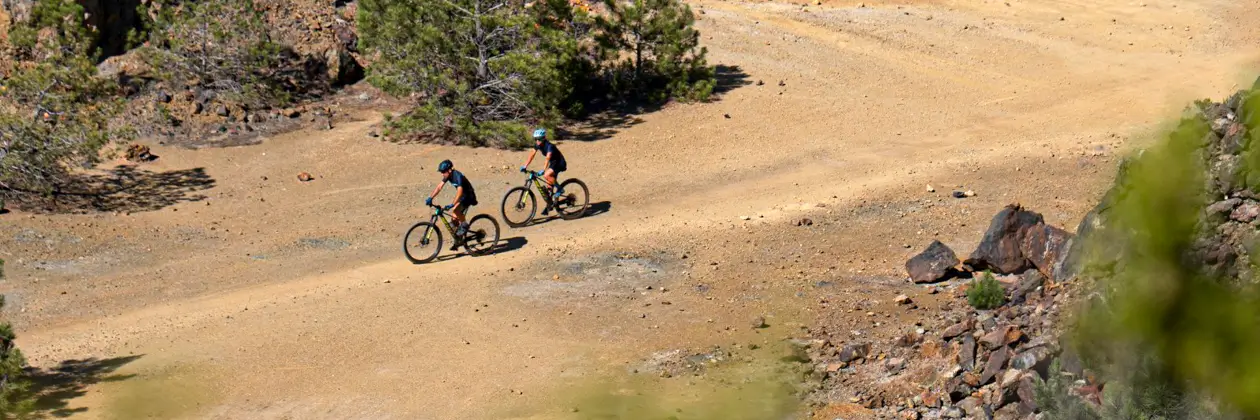
M470 145L522 145L524 124L554 120L567 95L554 54L519 0L365 0L368 79L417 108L396 129Z

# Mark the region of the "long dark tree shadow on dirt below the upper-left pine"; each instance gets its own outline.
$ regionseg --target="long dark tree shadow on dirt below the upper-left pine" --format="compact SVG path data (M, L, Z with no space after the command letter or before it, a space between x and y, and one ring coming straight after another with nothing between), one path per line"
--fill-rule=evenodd
M76 175L49 195L20 194L20 208L37 213L149 212L208 198L200 192L214 187L205 168L170 172L122 165L106 174Z

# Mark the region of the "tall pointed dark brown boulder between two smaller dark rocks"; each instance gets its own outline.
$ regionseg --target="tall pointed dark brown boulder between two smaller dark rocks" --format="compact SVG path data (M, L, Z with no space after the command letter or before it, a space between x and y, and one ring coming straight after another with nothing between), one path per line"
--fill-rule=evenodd
M989 222L980 246L964 261L973 270L993 270L998 274L1023 272L1031 267L1021 251L1023 232L1043 223L1041 214L1024 211L1019 204L1009 204Z

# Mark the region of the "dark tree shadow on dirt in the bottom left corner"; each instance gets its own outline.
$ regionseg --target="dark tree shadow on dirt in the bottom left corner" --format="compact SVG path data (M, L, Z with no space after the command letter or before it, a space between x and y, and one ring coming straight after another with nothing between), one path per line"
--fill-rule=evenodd
M144 354L87 358L64 361L54 368L29 368L28 392L35 400L35 416L69 417L83 414L86 407L69 407L69 401L87 395L88 388L97 383L126 381L135 375L115 375L113 372L144 357Z

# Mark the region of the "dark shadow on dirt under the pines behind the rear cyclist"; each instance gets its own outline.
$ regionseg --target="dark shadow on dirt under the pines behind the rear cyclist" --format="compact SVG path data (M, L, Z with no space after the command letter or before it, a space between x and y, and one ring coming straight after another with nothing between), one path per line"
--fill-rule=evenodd
M740 66L718 64L713 68L716 83L713 96L707 102L719 101L722 96L740 87L752 85L748 73ZM617 131L643 122L639 115L660 111L665 103L649 101L606 101L591 105L586 119L573 125L557 129L561 140L596 141L611 139Z

